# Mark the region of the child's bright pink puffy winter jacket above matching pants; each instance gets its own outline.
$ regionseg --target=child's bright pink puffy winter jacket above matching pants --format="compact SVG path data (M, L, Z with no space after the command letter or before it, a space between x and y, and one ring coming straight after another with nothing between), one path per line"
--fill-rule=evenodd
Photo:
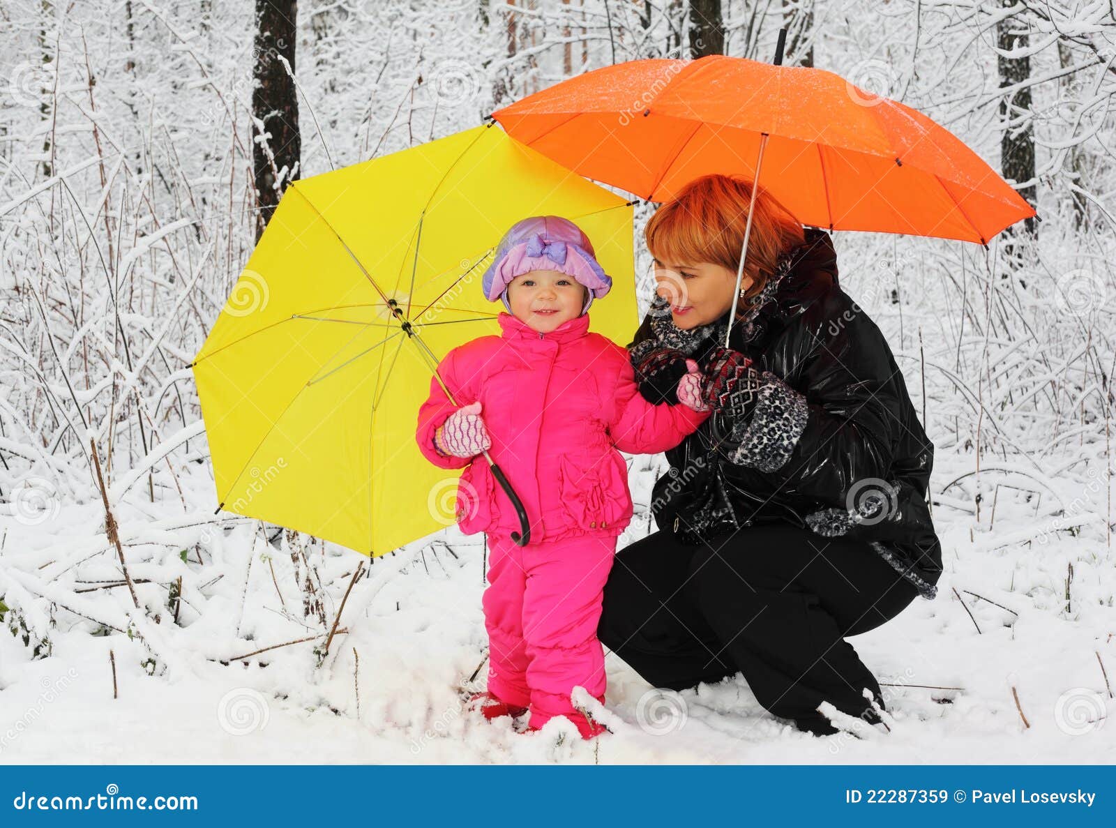
M619 451L673 449L709 416L684 405L652 405L638 393L627 350L588 333L589 317L540 334L511 314L501 336L465 343L439 364L458 406L481 401L489 453L519 494L531 542L575 535L616 536L632 520L627 464ZM434 431L456 406L436 378L419 410L419 447L443 469L468 466L458 483L462 532L519 529L511 501L483 455L441 454ZM617 451L619 450L619 451Z

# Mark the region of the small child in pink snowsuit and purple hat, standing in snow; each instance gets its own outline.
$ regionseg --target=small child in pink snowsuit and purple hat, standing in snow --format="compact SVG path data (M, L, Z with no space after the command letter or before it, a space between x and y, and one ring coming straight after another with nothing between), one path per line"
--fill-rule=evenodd
M512 225L483 279L485 298L509 311L498 317L502 333L445 355L437 370L460 407L432 379L416 434L432 463L465 468L461 531L488 533L488 693L473 700L488 719L529 709L529 730L568 716L586 739L604 728L574 709L570 692L580 685L605 701L602 590L632 519L619 451L674 447L709 416L696 364L679 379L682 405L652 405L627 352L588 333L589 306L610 287L573 222L545 215ZM523 547L510 537L520 529L511 501L478 456L484 450L527 511Z

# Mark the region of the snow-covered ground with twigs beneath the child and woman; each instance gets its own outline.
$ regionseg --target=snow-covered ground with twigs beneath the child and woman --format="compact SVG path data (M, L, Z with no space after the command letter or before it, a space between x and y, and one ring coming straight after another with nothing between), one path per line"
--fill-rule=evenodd
M940 461L935 479L963 471L950 461ZM652 480L652 472L636 472L637 500ZM1090 548L1065 532L1030 548L1012 545L1012 536L1039 521L1033 507L1003 497L992 531L974 531L972 539L971 519L940 504L946 572L939 597L916 599L894 622L852 639L886 685L896 720L889 735L805 735L766 714L740 676L660 692L609 655L607 711L598 716L614 732L594 745L571 738L565 721L521 734L509 719L489 723L463 709L460 689L484 657L481 536L451 529L377 558L349 595L340 623L347 632L320 661L324 632L363 558L333 545L306 550L311 578L324 585L316 593L324 612L304 618L306 594L296 579L305 579L306 568L296 572L287 540L277 550L257 522L235 518L215 529L203 508L212 500L209 481L198 473L190 482L184 493L195 508L153 514L129 497L118 518L132 576L150 580L136 585L137 594L151 618L161 618L133 623L146 645L119 633L90 635L126 630L136 618L125 586L78 591L119 578L115 552L97 551L104 548L96 536L104 513L98 501L4 521L0 593L38 612L19 616L29 645L21 635L0 635L0 725L7 728L0 761L1116 760L1105 719L1116 702L1100 666L1116 670L1110 552L1103 541ZM1060 494L1072 498L1068 490ZM27 516L46 519L35 523ZM646 518L637 514L622 541L645 530ZM166 585L179 577L175 625ZM9 610L7 620L15 615ZM309 636L316 637L222 663ZM49 657L36 658L44 637ZM477 683L483 678L481 667Z

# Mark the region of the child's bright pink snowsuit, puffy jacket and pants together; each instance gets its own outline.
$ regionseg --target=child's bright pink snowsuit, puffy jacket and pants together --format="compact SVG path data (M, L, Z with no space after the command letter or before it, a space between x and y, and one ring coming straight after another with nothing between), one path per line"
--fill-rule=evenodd
M434 431L455 410L436 379L419 412L423 454L443 469L468 466L458 484L462 532L488 532L489 692L530 707L541 728L566 715L586 733L570 703L575 685L604 703L604 651L597 639L602 595L616 536L632 519L620 451L672 449L709 416L684 405L652 405L638 393L628 353L588 333L583 314L540 334L511 314L501 336L445 355L439 374L459 406L481 401L489 453L527 510L530 542L518 547L511 501L483 455L445 456Z

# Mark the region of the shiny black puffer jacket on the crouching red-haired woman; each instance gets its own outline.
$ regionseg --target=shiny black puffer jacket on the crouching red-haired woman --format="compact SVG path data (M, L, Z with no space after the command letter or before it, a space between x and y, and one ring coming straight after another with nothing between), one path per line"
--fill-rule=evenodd
M864 539L933 598L942 571L926 506L934 445L887 340L837 283L829 234L805 232L732 327L730 346L762 372L748 422L716 414L666 452L655 522L690 543L769 520ZM682 331L656 302L628 345L632 362L667 346L704 367L727 322L728 314Z

